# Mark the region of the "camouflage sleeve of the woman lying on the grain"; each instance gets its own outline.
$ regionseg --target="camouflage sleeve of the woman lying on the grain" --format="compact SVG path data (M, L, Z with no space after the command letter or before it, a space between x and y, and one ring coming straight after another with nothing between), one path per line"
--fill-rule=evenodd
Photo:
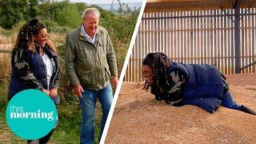
M182 102L182 88L185 82L184 75L178 71L174 70L167 76L164 100L170 105L178 105Z

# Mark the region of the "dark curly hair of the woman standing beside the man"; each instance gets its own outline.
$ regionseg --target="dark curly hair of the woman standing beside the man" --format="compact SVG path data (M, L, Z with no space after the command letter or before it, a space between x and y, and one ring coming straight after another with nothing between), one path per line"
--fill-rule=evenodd
M34 35L38 35L39 31L43 28L46 28L46 26L38 19L32 19L26 22L18 33L14 49L28 49L34 41Z

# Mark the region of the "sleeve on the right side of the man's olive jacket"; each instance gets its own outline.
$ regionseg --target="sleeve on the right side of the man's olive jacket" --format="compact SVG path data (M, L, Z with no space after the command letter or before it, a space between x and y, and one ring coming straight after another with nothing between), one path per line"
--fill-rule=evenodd
M106 42L107 42L107 52L106 52L106 59L107 63L110 66L110 73L111 76L118 76L118 66L117 66L117 60L114 54L114 48L112 46L110 35L106 32Z

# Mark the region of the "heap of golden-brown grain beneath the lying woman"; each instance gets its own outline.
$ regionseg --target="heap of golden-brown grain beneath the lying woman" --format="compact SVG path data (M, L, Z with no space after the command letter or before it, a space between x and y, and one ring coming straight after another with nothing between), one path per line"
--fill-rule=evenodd
M256 110L256 74L227 75L235 102ZM106 143L256 143L256 116L220 106L168 106L124 82Z

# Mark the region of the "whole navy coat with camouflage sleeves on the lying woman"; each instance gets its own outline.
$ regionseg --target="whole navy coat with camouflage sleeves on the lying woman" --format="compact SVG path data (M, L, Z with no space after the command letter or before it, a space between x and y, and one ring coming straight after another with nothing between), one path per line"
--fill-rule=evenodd
M161 86L152 86L157 100L174 106L194 105L214 113L222 104L228 84L215 66L170 62Z

